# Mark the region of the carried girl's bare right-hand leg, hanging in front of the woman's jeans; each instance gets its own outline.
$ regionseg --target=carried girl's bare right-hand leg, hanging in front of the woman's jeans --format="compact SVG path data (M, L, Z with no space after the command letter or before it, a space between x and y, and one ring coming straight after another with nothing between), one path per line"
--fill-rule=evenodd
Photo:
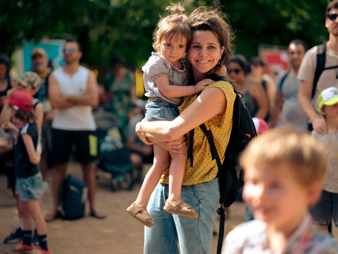
M170 153L172 161L169 169L168 199L173 201L181 199L182 181L188 157L187 145L184 145L182 148L180 148L180 150L182 151L182 153ZM169 203L166 202L166 205L169 206ZM178 207L183 208L187 205L188 204L184 202L181 203ZM194 209L192 209L192 213L195 213Z

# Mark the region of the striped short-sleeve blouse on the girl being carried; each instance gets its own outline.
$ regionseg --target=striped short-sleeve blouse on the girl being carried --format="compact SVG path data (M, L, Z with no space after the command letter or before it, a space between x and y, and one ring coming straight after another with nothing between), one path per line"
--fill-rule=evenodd
M146 97L160 97L175 105L182 103L183 97L168 98L164 96L154 82L154 78L168 76L169 84L174 86L186 86L189 81L189 62L185 56L181 59L184 69L179 70L169 63L162 55L152 52L148 62L142 67L143 81Z

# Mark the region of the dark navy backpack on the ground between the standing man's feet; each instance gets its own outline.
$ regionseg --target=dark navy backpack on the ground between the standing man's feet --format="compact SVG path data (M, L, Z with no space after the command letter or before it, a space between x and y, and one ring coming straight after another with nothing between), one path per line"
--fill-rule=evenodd
M85 183L69 175L60 195L59 211L64 219L79 219L84 216L84 206L88 196Z

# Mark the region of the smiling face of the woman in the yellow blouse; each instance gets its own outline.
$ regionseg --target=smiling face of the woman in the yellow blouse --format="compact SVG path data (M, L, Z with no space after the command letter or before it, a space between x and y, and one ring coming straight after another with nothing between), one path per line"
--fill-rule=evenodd
M204 77L208 71L216 66L222 57L223 50L224 47L219 45L213 31L194 31L188 54L195 79L196 77Z

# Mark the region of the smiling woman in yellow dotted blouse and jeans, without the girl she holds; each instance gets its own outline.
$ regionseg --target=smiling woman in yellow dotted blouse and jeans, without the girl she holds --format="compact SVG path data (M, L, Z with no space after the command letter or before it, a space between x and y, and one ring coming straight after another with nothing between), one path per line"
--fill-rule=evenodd
M215 71L230 63L232 44L230 26L222 19L219 9L196 8L189 16L192 38L187 45L192 73L188 82L195 85L204 79L216 80ZM210 82L211 83L211 82ZM216 161L212 160L206 136L199 128L205 123L213 133L221 162L232 129L233 105L236 94L232 85L217 81L206 86L200 95L183 98L178 107L179 116L173 121L140 122L136 132L145 143L156 143L172 153L189 144L184 135L194 129L193 166L185 163L180 198L197 218L173 215L166 212L182 208L168 203L169 169L164 171L160 183L153 191L147 210L153 226L145 227L144 253L209 253L214 217L219 206L219 179ZM191 143L191 142L190 142ZM171 207L172 206L172 207ZM178 213L177 213L178 214ZM148 220L149 221L149 220Z

